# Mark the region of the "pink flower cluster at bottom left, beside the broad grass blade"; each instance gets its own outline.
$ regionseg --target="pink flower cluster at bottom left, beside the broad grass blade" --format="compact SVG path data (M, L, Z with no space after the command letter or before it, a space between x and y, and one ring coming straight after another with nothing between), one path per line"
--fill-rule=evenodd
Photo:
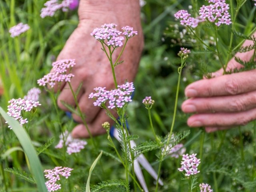
M44 176L46 179L48 179L48 181L45 183L48 192L61 189L61 185L57 184L57 181L60 180L60 176L63 176L67 179L70 176L72 170L72 168L68 167L55 167L54 169L44 170L44 173L46 173Z

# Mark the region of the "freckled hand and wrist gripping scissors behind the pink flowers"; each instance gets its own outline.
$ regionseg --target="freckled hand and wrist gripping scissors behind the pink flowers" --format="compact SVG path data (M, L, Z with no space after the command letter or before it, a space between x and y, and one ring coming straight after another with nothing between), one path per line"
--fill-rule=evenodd
M119 60L124 60L124 62L115 67L118 84L124 84L126 80L133 82L144 45L140 24L140 5L138 0L127 0L125 4L123 0L81 0L78 16L78 27L67 40L57 60L69 58L76 60L76 65L72 68L74 77L70 83L74 91L82 83L82 88L77 96L78 105L86 116L86 122L92 135L99 135L105 132L102 123L108 121L112 124L113 122L106 115L104 109L93 105L94 100L89 99L88 96L94 92L94 88L99 86L106 87L106 89L114 88L114 80L110 62L101 50L100 42L95 40L90 33L94 28L101 27L105 23L117 24L118 30L128 25L138 31L138 35L128 40ZM121 49L122 47L115 51L114 60ZM61 101L76 107L68 83L61 85L61 92L58 97L58 106L62 110L68 111ZM76 114L72 114L72 116L76 122L82 122ZM73 129L72 136L80 138L88 137L89 134L83 124L78 124Z

